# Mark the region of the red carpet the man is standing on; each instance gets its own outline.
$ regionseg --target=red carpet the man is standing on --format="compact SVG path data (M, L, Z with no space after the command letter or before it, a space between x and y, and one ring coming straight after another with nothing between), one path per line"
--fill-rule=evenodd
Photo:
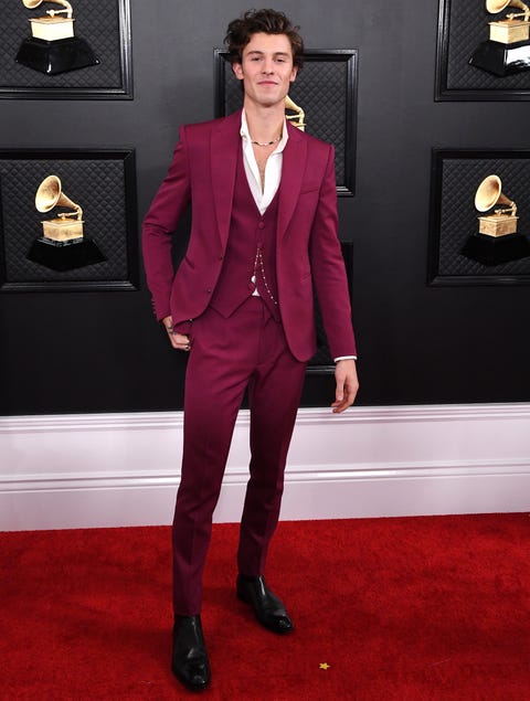
M234 595L216 525L203 699L530 698L528 514L283 522L282 638ZM168 528L0 533L0 699L187 699L170 657ZM327 669L321 666L329 666Z

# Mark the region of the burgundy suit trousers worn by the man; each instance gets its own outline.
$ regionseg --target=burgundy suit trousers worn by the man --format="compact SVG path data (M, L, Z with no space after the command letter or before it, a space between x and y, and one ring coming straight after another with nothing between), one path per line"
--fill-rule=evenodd
M246 389L251 464L237 569L263 574L306 370L259 297L248 298L230 318L209 307L193 321L190 338L182 475L172 531L174 613L189 616L201 610L212 516Z

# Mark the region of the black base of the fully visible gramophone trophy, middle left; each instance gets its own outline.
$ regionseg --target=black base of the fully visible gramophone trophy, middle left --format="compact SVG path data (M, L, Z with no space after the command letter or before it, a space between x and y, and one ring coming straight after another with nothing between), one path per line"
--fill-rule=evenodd
M50 241L44 237L36 238L32 243L26 258L61 273L106 261L106 257L91 238L77 238L68 242Z

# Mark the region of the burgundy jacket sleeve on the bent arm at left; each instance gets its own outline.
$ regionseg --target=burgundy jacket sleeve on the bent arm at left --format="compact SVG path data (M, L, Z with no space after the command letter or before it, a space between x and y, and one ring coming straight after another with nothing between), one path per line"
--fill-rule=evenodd
M170 315L169 300L174 277L171 237L190 199L186 128L182 127L168 174L155 195L142 225L144 267L158 320Z

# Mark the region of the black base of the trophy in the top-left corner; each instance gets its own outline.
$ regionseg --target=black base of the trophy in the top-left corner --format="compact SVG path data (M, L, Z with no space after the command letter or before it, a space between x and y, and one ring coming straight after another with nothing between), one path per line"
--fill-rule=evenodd
M46 75L86 68L99 63L91 46L80 36L56 41L29 36L20 45L15 61Z

